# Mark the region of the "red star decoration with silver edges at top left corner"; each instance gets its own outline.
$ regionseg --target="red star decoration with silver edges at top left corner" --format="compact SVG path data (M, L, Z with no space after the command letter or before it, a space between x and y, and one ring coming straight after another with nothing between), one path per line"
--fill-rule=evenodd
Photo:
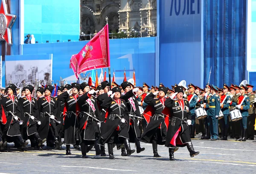
M6 1L2 0L0 8L0 40L4 40L7 44L12 44L11 27L16 19L16 15L9 14Z

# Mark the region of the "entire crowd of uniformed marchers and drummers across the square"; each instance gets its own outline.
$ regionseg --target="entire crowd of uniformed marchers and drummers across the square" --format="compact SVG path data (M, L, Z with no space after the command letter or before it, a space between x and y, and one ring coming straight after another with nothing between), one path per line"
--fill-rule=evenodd
M145 142L152 144L154 157L160 157L157 145L165 145L175 160L178 147L186 146L191 157L199 154L191 142L195 133L212 141L254 139L256 101L250 84L207 84L205 89L175 84L169 89L160 83L150 90L146 83L135 87L125 81L120 86L113 82L110 90L108 81L98 87L83 82L58 87L57 97L51 96L51 85L38 87L36 98L32 85L19 90L15 84L1 90L0 151L7 151L9 142L24 151L30 139L36 150L42 151L47 141L58 150L65 144L66 155L71 155L73 145L87 158L93 146L96 155L106 156L107 144L109 159L115 159L114 146L129 156L135 152L130 142L137 153L145 150L140 145Z

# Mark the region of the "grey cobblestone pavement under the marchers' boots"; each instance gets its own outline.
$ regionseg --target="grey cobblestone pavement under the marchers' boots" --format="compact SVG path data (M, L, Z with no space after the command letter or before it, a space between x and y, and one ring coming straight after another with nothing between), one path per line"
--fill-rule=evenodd
M210 141L192 139L198 156L191 158L186 147L175 152L176 161L169 161L168 148L159 145L158 153L161 158L154 158L151 144L141 143L145 151L130 157L122 157L121 151L114 148L115 160L95 155L94 148L88 153L89 158L82 159L81 151L71 149L72 156L66 156L65 150L35 151L27 148L18 152L9 145L9 152L0 153L0 172L7 174L19 173L255 173L256 170L256 140L246 142ZM108 152L107 145L106 153ZM134 143L131 143L134 148ZM65 146L63 145L63 148Z

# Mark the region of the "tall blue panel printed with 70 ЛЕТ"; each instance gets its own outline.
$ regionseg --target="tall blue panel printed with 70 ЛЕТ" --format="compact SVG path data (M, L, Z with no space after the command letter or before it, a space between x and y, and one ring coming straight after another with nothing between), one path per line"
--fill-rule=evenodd
M160 0L160 82L201 86L201 0Z

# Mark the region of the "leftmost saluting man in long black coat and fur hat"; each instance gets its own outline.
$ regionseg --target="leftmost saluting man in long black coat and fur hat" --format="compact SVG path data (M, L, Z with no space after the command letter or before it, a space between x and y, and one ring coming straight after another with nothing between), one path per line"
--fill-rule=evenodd
M64 88L66 88L65 85ZM79 99L79 84L72 83L72 88L58 96L60 102L65 102L67 115L64 120L64 144L66 145L66 155L72 155L70 152L70 145L77 145L76 135L78 135L78 128L76 129L77 115L79 112L79 105L77 100ZM69 94L72 90L72 94Z

